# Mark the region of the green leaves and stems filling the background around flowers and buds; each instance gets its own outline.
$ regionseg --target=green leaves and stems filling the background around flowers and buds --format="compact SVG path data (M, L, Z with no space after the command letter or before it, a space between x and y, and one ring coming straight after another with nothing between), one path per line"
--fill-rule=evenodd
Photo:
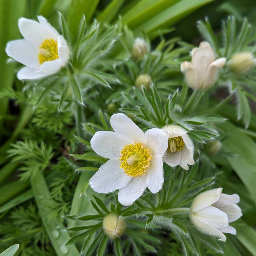
M56 76L23 83L16 78L21 66L7 61L4 48L20 38L18 18L37 15L64 35L72 60ZM255 35L254 0L0 0L0 252L18 243L10 248L15 255L255 256L255 69L236 76L224 67L210 92L189 89L180 72L203 40L229 59L255 53ZM151 53L135 62L138 36ZM151 75L150 90L134 87L141 73ZM90 138L111 130L115 112L143 130L183 126L198 160L189 171L165 166L163 189L128 208L116 193L97 194L88 183L106 161ZM210 155L207 142L216 139L222 149ZM225 243L188 218L193 198L212 187L241 197L237 236ZM109 212L127 220L114 241L102 231Z

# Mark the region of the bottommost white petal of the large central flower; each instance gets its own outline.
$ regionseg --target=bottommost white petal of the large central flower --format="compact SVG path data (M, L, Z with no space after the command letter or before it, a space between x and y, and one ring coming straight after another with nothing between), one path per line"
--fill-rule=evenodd
M146 175L132 178L131 181L123 188L119 189L118 201L125 205L132 205L138 199L146 188Z

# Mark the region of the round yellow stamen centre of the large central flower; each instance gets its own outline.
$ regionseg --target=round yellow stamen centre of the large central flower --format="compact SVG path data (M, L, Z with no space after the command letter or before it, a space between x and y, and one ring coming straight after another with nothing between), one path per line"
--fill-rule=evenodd
M125 145L121 151L121 158L119 159L121 166L127 175L138 177L147 173L150 168L150 160L152 160L152 153L150 148L145 147L141 142Z

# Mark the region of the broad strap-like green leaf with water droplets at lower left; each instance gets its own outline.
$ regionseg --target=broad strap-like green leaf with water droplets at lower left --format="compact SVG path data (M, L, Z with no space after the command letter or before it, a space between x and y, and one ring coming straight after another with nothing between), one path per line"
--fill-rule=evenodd
M43 225L55 248L56 254L58 256L80 256L80 253L74 244L65 245L70 239L70 236L60 219L53 216L51 204L54 207L55 203L51 198L50 191L42 172L37 171L35 176L30 179L30 183Z

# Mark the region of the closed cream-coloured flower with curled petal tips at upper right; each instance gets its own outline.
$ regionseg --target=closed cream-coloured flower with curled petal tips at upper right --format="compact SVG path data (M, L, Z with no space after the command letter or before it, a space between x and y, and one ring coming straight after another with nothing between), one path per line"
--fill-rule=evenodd
M214 59L214 52L207 42L201 42L199 48L193 49L191 63L184 61L181 64L181 71L185 73L190 87L205 89L216 82L219 69L224 66L226 58Z

